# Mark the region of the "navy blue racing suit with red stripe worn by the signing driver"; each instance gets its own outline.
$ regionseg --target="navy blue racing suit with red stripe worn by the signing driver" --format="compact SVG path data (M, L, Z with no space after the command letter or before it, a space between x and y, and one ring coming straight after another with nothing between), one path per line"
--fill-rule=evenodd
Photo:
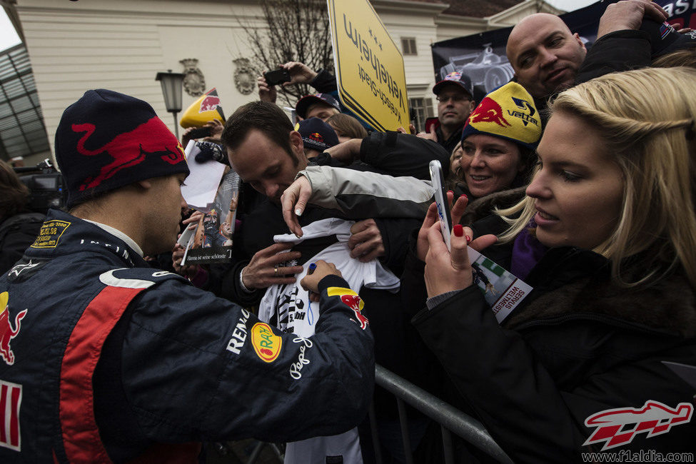
M316 335L281 333L50 211L0 278L0 462L195 459L206 440L353 428L371 400L373 337L342 278L320 290Z

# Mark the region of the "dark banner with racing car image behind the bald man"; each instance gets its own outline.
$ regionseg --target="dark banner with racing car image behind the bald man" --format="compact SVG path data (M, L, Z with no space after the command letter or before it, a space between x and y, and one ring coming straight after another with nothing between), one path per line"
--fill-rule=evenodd
M570 31L578 33L589 49L597 38L600 17L609 4L618 0L602 0L560 17ZM696 29L696 1L655 0L670 15L669 24ZM432 47L435 82L452 72L460 72L471 79L474 99L481 101L485 94L513 78L513 66L505 56L505 44L512 27L435 42Z

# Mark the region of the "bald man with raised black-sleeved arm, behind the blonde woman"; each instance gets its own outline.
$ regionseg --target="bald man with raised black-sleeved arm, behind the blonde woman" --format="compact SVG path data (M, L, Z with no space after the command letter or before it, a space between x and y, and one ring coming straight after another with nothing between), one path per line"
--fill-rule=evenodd
M595 69L582 80L650 64L650 43L637 31L644 17L662 23L667 13L650 0L622 0L607 6L592 48ZM600 42L602 46L597 47ZM506 52L518 83L535 99L546 99L573 86L587 49L563 19L535 13L510 31Z

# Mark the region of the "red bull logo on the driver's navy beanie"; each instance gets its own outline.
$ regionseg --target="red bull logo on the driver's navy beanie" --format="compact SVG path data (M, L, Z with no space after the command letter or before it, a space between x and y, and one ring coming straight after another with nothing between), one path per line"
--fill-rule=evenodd
M77 142L78 153L84 156L96 156L101 153L107 153L111 158L114 158L114 161L111 161L106 166L102 166L99 174L87 178L85 183L80 186L81 191L98 186L106 179L114 176L118 171L121 171L121 169L131 168L142 163L145 161L146 156L159 155L163 161L171 164L185 160L183 148L178 141L176 146L163 146L163 141L159 134L163 133L163 131L169 134L171 132L158 117L151 118L130 132L119 133L109 143L105 143L104 146L94 150L89 150L84 146L87 139L96 130L94 124L73 124L72 130L78 133L85 133Z

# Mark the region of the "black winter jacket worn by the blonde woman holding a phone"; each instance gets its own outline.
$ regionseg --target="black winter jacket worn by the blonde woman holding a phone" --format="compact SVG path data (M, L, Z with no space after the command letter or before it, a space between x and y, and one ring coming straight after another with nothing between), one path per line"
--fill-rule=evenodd
M506 248L484 254L505 261ZM695 392L661 362L696 365L696 292L680 273L619 288L605 258L564 247L550 249L525 281L534 291L502 327L475 286L413 318L460 394L454 402L515 463L582 462L581 453L606 443L590 440L599 427L585 424L604 410L634 408L637 417L653 401L692 411ZM630 420L611 430L630 439L612 451L696 451L696 423L649 438L657 423L642 425L640 433Z

